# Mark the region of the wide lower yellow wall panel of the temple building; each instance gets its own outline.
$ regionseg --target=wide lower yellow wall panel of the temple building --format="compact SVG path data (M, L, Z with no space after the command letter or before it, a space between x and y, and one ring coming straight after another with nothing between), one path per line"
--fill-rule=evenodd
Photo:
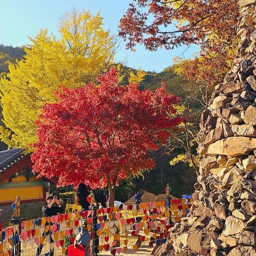
M43 187L32 186L23 188L2 188L0 189L0 203L14 202L16 196L20 196L20 201L43 198Z

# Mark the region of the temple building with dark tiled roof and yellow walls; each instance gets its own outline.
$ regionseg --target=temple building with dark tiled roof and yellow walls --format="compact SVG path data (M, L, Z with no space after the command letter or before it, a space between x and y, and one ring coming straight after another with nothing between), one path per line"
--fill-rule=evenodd
M16 196L20 196L23 218L42 216L46 194L55 187L58 179L36 178L31 172L32 165L30 155L24 154L22 148L0 151L0 221L3 223L12 216L11 204Z

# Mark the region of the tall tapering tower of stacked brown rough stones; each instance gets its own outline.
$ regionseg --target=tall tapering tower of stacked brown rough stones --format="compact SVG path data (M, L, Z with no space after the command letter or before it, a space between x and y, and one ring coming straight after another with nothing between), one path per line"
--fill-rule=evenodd
M191 215L170 231L180 255L256 256L256 0L238 0L238 53L201 117Z

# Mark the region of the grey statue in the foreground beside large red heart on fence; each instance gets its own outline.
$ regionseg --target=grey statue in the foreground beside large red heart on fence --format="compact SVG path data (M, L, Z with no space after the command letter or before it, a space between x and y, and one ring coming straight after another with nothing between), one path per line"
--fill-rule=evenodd
M89 248L91 236L88 232L87 225L87 220L80 220L80 226L82 230L76 236L76 239L74 241L74 247L76 248L78 245L82 245L84 247L85 256L90 256Z

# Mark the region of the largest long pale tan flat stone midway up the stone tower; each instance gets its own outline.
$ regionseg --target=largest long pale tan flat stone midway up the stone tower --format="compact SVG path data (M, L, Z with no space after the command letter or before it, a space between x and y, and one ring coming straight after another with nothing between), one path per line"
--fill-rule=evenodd
M208 153L212 155L242 156L253 152L255 148L256 138L229 137L212 143L208 148Z

